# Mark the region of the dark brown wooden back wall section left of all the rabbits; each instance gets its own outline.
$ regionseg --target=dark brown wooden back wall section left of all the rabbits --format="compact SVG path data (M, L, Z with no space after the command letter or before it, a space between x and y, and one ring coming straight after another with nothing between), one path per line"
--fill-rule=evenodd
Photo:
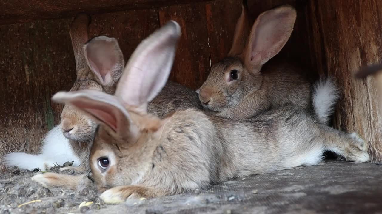
M0 157L37 152L57 124L62 108L50 97L76 78L67 26L68 20L57 20L0 27Z

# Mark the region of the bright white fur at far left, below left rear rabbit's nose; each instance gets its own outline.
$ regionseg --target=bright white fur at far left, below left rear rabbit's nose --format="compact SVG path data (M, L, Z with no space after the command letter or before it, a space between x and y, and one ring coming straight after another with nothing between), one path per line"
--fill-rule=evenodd
M7 167L18 166L21 169L35 169L46 171L56 164L62 165L66 161L73 161L73 166L79 166L80 160L71 150L68 139L63 136L60 128L55 126L42 140L42 151L39 155L24 152L14 152L5 155Z

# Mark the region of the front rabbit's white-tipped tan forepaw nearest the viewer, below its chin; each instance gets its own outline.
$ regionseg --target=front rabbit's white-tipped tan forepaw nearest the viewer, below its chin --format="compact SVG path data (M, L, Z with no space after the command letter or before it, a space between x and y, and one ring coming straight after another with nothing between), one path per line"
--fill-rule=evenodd
M146 199L153 195L148 194L148 189L141 186L119 186L106 190L100 198L106 204L119 204L126 200Z

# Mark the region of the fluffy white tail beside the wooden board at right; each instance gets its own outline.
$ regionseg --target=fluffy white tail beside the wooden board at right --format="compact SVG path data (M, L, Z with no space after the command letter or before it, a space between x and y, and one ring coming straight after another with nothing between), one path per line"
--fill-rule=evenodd
M312 91L313 109L317 120L329 125L329 118L334 112L335 104L340 97L340 90L332 78L318 80Z

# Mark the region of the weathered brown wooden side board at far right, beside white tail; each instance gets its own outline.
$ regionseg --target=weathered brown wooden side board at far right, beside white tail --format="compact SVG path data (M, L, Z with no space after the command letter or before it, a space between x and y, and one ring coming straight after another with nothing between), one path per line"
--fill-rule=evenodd
M380 62L382 2L309 1L311 58L321 75L334 76L341 86L335 127L359 133L369 142L372 162L382 163L382 134L376 84L354 78L363 65ZM313 60L314 59L314 60Z

